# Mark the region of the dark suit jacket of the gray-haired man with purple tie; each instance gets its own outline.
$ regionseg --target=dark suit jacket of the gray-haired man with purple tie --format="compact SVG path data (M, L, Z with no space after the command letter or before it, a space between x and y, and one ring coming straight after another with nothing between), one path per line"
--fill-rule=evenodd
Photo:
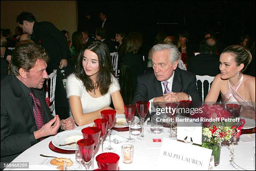
M192 97L192 101L200 101L197 92L195 74L177 68L174 72L172 92L184 92ZM140 100L151 100L154 97L163 96L161 82L159 82L154 71L148 71L138 77L137 89L133 96L133 104Z

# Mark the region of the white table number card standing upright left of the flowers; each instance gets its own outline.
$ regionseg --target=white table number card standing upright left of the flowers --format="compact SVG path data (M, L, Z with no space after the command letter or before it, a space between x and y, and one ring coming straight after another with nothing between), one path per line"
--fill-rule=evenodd
M192 139L194 144L202 145L202 122L193 122L193 119L195 118L179 116L177 139L184 141L187 137L187 143Z

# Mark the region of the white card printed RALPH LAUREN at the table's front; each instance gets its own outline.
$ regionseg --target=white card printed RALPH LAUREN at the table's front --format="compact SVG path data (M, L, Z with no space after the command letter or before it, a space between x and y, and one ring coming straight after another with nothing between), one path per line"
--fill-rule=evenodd
M212 150L163 138L158 170L208 170Z

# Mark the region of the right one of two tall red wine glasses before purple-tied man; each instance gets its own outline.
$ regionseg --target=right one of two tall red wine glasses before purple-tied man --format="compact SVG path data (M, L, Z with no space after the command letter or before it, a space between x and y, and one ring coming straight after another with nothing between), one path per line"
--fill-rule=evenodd
M144 119L146 117L146 115L148 114L148 108L149 108L149 102L148 101L138 101L136 102L136 107L137 107L137 111L138 111L138 115L141 117L141 128L142 128L142 132L141 132L141 136L137 137L138 139L144 140L145 136L144 136Z

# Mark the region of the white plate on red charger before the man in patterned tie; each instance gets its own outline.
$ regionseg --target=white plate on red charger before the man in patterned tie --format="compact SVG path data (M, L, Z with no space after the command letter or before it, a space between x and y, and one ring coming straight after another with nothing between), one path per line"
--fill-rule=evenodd
M78 140L83 139L82 131L81 130L66 130L52 138L51 142L55 147L64 149L64 150L75 150L76 145L66 145L66 146L59 146L59 144L67 144L72 142L77 142Z

